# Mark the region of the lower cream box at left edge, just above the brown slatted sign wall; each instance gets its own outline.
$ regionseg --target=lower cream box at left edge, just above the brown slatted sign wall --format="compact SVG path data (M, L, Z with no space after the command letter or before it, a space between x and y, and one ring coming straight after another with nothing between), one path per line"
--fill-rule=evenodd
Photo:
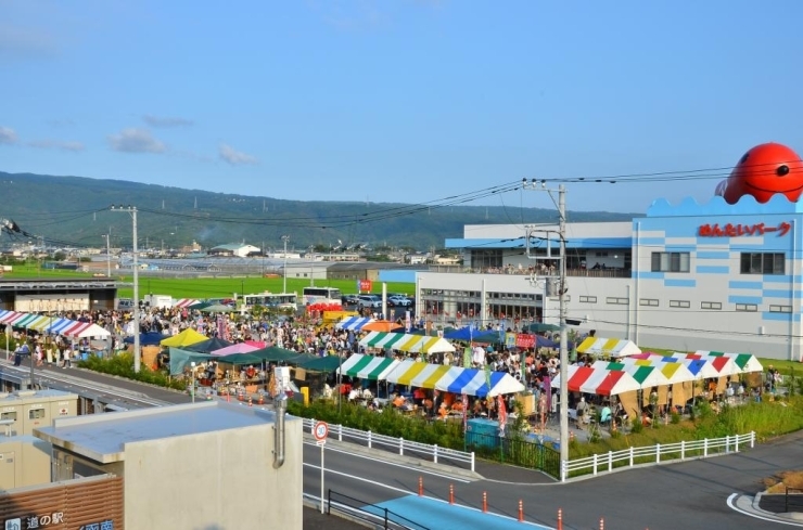
M0 490L50 483L53 447L34 436L0 436Z

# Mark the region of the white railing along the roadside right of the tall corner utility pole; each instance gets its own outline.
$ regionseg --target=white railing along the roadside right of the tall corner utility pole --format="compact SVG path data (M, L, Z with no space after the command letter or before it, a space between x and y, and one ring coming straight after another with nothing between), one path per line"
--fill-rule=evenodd
M717 454L738 453L739 448L755 445L755 432L726 436L711 440L681 441L678 443L655 444L647 448L629 448L622 451L609 451L585 458L565 462L561 466L561 480L565 481L572 471L588 471L592 475L611 473L615 468L635 465L661 464L686 458L705 458Z

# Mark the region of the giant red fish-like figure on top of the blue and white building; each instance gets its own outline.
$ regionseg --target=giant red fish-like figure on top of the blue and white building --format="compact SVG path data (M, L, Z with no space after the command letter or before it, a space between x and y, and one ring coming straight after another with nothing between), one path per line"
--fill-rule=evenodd
M796 203L803 192L803 160L798 153L779 143L763 143L744 153L730 172L719 182L715 195L736 204L744 195L766 203L782 193Z

